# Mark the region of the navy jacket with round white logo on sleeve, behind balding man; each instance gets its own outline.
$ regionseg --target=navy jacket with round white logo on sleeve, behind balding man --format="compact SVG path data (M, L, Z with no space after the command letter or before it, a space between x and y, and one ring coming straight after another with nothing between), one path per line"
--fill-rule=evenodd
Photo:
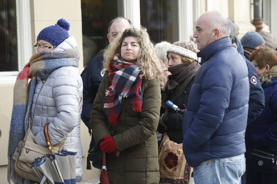
M238 52L243 56L243 46L236 38L236 45ZM245 58L245 57L244 57ZM247 124L254 121L264 108L264 93L263 88L261 86L261 82L259 77L257 76L257 72L255 66L245 58L245 62L248 69L248 79L249 79L249 102L248 102L248 118Z

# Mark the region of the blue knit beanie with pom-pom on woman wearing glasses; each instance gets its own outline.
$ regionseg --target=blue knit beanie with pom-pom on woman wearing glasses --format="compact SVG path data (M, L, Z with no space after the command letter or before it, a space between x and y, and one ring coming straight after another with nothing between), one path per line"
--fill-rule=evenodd
M58 20L57 24L50 25L42 29L38 34L37 41L45 40L57 47L60 43L69 37L69 27L70 24L65 19L61 18Z

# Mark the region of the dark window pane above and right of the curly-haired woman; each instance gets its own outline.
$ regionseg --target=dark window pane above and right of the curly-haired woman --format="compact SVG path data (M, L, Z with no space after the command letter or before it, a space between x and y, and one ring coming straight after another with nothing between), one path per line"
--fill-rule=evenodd
M151 40L155 43L173 43L178 40L177 20L177 1L140 0L141 25L147 27Z

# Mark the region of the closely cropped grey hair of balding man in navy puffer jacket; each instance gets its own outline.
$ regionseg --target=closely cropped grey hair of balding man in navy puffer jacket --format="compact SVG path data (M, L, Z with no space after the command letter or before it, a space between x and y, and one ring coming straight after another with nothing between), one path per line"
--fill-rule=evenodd
M210 11L207 13L211 14L211 31L217 28L223 37L230 36L230 25L225 15L219 11Z

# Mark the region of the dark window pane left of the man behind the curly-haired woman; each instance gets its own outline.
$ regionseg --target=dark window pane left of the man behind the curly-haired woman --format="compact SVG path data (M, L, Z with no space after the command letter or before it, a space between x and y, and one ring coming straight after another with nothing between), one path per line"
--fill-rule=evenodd
M108 25L118 16L117 5L110 0L81 0L84 66L108 45Z

